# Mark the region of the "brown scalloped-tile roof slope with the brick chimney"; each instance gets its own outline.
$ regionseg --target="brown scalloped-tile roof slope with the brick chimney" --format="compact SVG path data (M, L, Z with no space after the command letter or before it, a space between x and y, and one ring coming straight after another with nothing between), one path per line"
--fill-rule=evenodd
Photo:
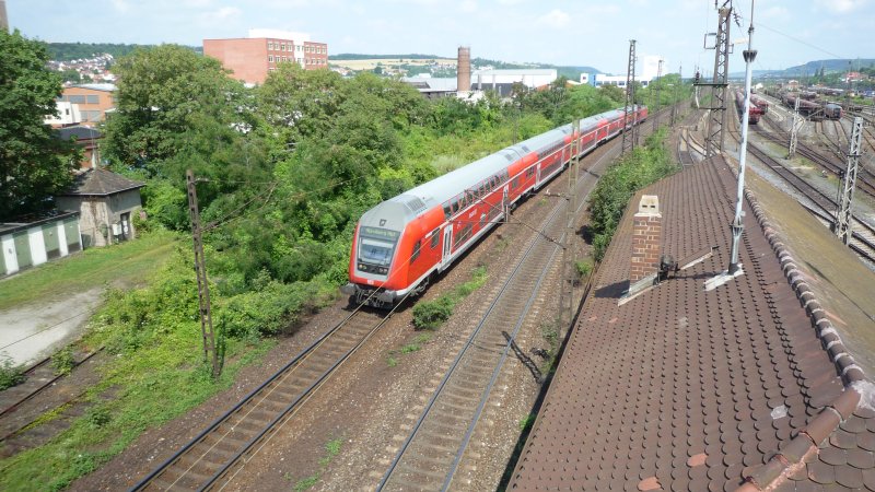
M818 325L818 338L809 317L822 309L801 293L804 282L789 281L792 263L779 260L761 210L746 203L745 273L703 288L728 262L735 178L726 162L692 166L646 194L660 198L664 253L682 265L718 249L618 305L631 249L625 215L511 489L875 490L875 413L850 415L860 397L844 390L838 367L849 367L845 379L862 372L824 349L830 335Z

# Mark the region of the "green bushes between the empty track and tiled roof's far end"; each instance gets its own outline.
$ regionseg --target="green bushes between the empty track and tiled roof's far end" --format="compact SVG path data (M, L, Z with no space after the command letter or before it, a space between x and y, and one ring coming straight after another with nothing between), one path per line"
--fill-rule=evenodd
M614 163L598 180L590 202L593 257L602 261L622 212L634 192L679 167L665 148L665 128L648 137L644 147Z

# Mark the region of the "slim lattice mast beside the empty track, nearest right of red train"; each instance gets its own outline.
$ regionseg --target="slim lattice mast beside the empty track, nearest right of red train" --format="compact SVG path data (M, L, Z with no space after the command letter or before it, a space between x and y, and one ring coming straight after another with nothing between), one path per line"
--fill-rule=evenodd
M562 244L562 285L559 291L559 331L562 336L574 317L574 219L578 210L578 176L581 155L581 120L571 124L571 159L569 160L568 192L565 194L565 241Z

